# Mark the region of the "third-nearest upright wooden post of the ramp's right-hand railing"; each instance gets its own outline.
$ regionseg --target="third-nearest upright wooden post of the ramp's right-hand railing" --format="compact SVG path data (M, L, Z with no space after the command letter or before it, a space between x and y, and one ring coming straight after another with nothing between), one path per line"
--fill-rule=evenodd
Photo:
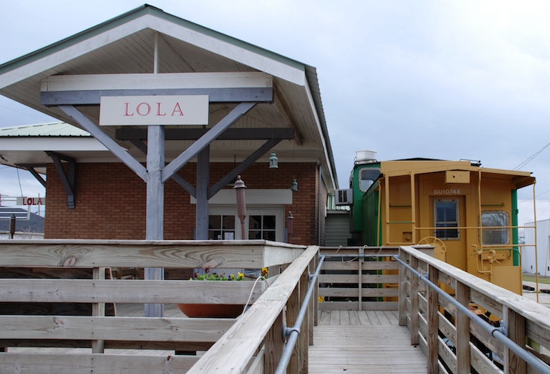
M428 265L428 279L437 285L439 270ZM439 295L432 287L428 288L428 374L439 373Z

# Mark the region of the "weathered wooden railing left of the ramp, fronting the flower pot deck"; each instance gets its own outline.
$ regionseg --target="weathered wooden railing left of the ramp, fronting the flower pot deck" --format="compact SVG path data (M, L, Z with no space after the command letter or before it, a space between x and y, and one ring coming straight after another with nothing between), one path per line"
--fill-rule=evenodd
M270 373L277 352L283 350L283 310L287 310L288 324L298 313L299 290L307 287L308 271L317 254L318 248L306 250L269 241L0 241L0 373L20 373L21 368L25 373L41 373L45 367L59 374L210 373L214 370L201 368L215 364L238 367L239 373L245 368L250 373L261 372L265 367L265 373ZM120 303L243 305L252 289L249 281L104 279L105 268L129 267L269 267L270 275L281 267L287 269L269 279L275 281L263 294L257 286L252 292L254 304L236 320L186 318L183 314L181 318L105 316L105 305ZM80 278L68 279L66 275L74 272ZM41 278L28 278L33 273ZM93 276L85 279L83 274ZM55 307L60 304L63 307ZM307 326L313 326L315 306L311 304ZM29 315L30 311L36 315ZM307 358L312 329L304 335L294 365ZM212 344L219 355L206 361L142 350L206 351ZM42 348L11 352L10 347ZM64 354L53 347L91 350ZM113 348L132 351L116 355L106 351ZM205 357L210 355L209 351Z

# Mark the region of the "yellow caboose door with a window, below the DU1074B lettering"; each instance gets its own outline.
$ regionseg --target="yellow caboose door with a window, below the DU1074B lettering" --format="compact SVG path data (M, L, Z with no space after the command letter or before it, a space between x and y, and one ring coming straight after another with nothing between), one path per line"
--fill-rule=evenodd
M434 236L445 245L446 261L467 270L465 202L463 196L432 197Z

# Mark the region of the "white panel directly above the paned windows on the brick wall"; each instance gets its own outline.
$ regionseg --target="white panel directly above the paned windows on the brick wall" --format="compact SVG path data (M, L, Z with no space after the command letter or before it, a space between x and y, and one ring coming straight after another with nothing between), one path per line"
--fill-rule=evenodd
M292 191L287 190L245 190L246 205L287 205L292 204ZM191 203L197 200L191 197ZM236 205L236 193L234 190L220 190L208 200L209 204Z

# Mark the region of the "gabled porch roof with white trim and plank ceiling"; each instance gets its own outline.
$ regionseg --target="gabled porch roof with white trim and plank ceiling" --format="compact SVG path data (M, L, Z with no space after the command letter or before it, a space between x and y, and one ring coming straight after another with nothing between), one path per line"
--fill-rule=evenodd
M43 81L52 76L152 74L155 39L159 74L263 72L272 76L276 96L274 104L256 105L233 127L292 126L295 142L283 141L276 147L280 162L320 162L329 191L338 184L314 67L175 17L151 5L142 5L0 65L0 94L78 126L58 107L41 104ZM215 124L233 107L233 103L211 103L211 122ZM98 107L80 110L97 120ZM113 130L105 132L115 138ZM119 143L129 149L129 153L140 157L133 144ZM223 145L214 142L210 148L211 159L213 162L233 162L235 157L245 157L261 144L256 140L224 142ZM167 160L174 157L172 150L181 151L189 145L185 141L167 142ZM261 161L267 162L268 157L266 155ZM75 158L78 162L78 156ZM106 159L104 156L100 158Z

